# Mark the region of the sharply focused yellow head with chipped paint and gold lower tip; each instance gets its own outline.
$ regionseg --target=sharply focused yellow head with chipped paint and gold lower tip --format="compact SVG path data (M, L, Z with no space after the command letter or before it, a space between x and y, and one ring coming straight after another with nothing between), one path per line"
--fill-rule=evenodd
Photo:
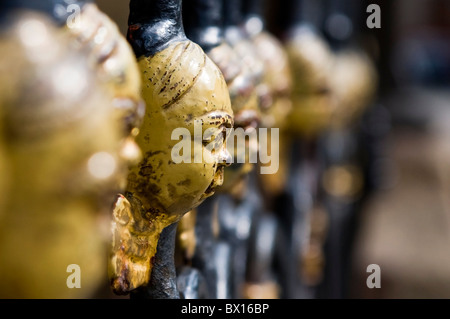
M124 294L145 285L162 229L214 194L223 182L222 149L208 151L202 141L202 163L175 164L171 151L176 128L194 134L194 120L224 129L233 125L229 92L222 73L195 43L174 42L150 57L138 60L142 95L147 104L136 138L143 159L130 169L125 196L114 209L112 258L109 274L113 290ZM193 147L194 151L197 149ZM126 216L118 218L118 216Z

